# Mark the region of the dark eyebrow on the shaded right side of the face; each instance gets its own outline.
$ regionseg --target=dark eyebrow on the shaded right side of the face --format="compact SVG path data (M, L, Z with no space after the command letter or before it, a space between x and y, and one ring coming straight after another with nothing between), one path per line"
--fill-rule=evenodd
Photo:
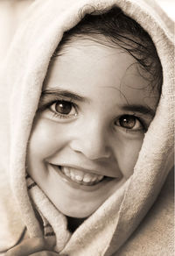
M149 106L137 105L137 104L128 104L121 107L123 110L133 111L141 113L144 115L149 115L151 117L155 116L155 111L152 110Z

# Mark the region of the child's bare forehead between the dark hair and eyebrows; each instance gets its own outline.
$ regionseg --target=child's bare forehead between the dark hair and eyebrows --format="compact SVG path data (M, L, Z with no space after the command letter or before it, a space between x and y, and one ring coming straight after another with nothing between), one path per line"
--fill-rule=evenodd
M158 92L152 91L150 75L130 53L104 40L74 39L63 46L48 69L45 88L60 86L87 96L110 92L111 97L120 95L129 103L144 99L154 107Z

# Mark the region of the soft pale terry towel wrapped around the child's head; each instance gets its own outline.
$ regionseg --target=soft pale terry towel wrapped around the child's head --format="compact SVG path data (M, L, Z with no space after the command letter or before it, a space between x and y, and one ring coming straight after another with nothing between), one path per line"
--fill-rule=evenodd
M66 228L66 217L52 205L38 186L34 186L29 191L27 189L27 186L30 187L33 182L30 178L27 182L25 180L27 141L49 61L63 32L80 21L80 10L81 16L84 16L95 10L97 13L107 11L115 5L150 33L163 66L163 93L156 117L145 135L133 175L71 234ZM36 0L31 4L24 24L21 25L11 44L1 75L0 90L1 96L4 96L0 108L1 120L4 120L0 134L4 172L4 184L1 186L5 187L2 188L3 191L8 190L3 196L7 197L9 202L7 207L9 213L4 214L3 218L3 227L6 231L1 238L1 251L18 241L25 225L30 237L45 235L45 231L38 224L31 205L32 201L43 217L45 225L50 224L50 229L54 231L57 241L55 251L60 255L109 256L113 253L114 255L173 255L172 237L165 239L163 235L164 232L165 234L172 232L170 229L172 222L165 219L167 215L167 219L170 220L172 213L169 210L170 197L167 193L162 195L166 195L165 199L168 203L160 199L163 202L161 207L154 210L153 206L151 209L172 167L172 29L172 21L152 0ZM5 173L4 170L7 172ZM11 188L8 177L11 180ZM11 191L15 201L11 197ZM167 212L164 211L166 207ZM148 224L143 222L140 226L150 209L153 213L146 217L150 219ZM18 216L19 210L22 220ZM151 232L152 227L156 229L160 224L158 217L162 220L162 227L158 229L159 243L165 239L168 245L157 246L156 251L153 252L154 246L149 247L145 238L149 240L151 233L151 242L156 234L158 241L158 232ZM126 243L132 233L130 241ZM147 247L148 251L146 251Z

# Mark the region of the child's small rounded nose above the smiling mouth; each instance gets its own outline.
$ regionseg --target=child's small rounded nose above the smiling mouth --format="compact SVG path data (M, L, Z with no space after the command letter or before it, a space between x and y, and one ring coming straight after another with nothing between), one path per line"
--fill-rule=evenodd
M92 122L90 125L83 125L81 129L79 127L76 131L76 135L70 143L73 151L84 154L89 160L110 157L108 135L102 125Z

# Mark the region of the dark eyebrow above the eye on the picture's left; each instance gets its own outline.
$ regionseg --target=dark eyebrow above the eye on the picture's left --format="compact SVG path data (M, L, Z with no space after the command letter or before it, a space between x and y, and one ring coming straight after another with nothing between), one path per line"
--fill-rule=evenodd
M78 101L78 102L87 102L88 99L83 97L83 96L80 96L80 95L77 95L76 93L72 92L72 91L69 91L69 90L66 90L66 89L44 89L41 93L41 99L43 97L49 97L50 100L54 100L55 98L62 98L63 100L65 99L71 99L71 100L74 100L74 101Z

